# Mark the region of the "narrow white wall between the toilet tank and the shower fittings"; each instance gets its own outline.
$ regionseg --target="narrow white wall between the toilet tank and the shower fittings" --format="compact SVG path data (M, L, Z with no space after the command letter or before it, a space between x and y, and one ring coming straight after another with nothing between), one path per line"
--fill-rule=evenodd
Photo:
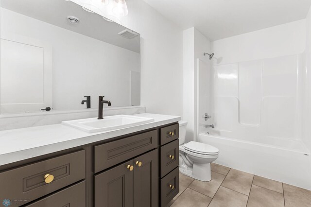
M202 120L202 111L208 110L205 106L199 112L198 104L198 59L207 63L205 69L209 70L210 62L204 52L210 52L210 41L195 28L184 31L184 117L188 121L186 142L196 140L198 121ZM208 82L208 81L207 81ZM208 89L208 88L207 88ZM207 111L206 111L207 112ZM205 112L204 112L205 113Z

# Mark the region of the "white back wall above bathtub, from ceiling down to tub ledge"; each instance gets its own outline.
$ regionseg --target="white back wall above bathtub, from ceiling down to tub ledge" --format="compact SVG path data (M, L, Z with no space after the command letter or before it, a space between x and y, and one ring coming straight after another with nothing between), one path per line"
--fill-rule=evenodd
M301 140L305 23L213 42L216 128L258 142Z

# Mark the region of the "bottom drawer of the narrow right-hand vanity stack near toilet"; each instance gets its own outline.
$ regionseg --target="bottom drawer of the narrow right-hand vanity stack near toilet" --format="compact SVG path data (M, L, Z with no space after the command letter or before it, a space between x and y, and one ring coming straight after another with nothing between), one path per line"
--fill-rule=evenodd
M161 207L166 205L179 192L179 168L175 168L171 173L161 179Z

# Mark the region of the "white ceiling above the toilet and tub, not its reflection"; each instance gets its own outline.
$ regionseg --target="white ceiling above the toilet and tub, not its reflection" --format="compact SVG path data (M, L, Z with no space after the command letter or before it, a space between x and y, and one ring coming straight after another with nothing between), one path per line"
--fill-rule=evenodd
M182 29L210 40L252 32L307 16L311 0L144 0Z

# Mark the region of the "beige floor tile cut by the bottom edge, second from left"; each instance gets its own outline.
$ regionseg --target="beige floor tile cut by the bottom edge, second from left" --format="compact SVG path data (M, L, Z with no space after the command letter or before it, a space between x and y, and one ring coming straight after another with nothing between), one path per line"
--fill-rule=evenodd
M220 187L208 207L246 207L248 196Z

